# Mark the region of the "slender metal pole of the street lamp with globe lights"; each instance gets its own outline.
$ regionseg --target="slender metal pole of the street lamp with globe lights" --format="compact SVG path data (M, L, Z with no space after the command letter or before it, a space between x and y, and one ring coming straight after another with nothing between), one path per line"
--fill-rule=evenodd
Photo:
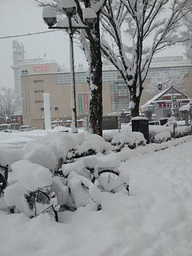
M76 96L75 96L75 73L74 73L74 53L73 53L73 30L71 25L71 17L69 18L69 46L70 46L70 75L71 75L71 109L72 109L72 123L71 129L73 133L77 133L77 110L76 110Z

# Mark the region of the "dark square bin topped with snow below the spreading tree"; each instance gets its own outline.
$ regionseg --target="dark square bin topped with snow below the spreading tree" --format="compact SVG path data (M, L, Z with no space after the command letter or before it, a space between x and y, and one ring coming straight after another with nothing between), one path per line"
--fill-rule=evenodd
M146 117L131 118L132 131L139 131L149 144L149 119Z

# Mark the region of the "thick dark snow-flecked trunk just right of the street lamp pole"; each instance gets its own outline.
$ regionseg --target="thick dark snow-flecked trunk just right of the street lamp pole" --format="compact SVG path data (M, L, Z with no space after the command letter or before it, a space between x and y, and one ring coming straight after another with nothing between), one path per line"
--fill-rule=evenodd
M102 60L100 48L99 17L93 27L95 35L90 41L90 108L89 128L90 133L102 136Z

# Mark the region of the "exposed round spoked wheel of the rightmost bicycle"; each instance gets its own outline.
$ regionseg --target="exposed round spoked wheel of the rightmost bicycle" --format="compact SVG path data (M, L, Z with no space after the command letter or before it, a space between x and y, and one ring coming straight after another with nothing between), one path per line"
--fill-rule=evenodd
M114 170L101 170L98 178L93 177L92 182L99 187L101 191L115 193L122 189L122 182L118 179L119 173Z

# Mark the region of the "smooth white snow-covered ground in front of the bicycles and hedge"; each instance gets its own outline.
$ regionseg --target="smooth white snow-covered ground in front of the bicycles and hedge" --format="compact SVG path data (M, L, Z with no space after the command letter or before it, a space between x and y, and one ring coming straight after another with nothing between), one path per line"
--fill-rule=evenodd
M21 148L45 134L2 133L0 146ZM64 211L59 223L48 214L30 219L0 211L0 255L191 256L192 136L184 141L117 153L128 159L120 170L129 174L130 196L102 192L100 211L89 205ZM154 151L163 145L168 149Z

